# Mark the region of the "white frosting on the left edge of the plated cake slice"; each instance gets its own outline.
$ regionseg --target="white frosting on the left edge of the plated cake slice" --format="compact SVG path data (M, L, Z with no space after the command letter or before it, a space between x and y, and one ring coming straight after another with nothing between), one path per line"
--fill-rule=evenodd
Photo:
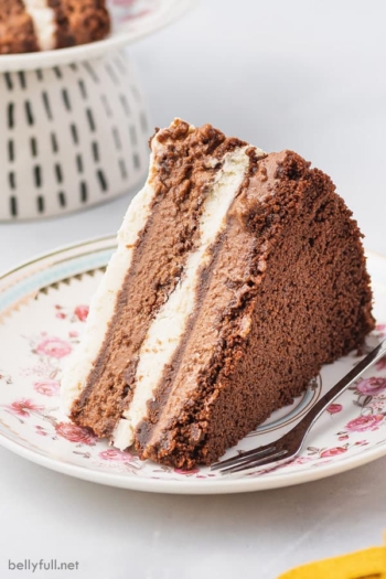
M133 246L150 215L151 203L156 194L151 185L154 172L152 164L153 156L151 154L149 179L126 213L122 226L118 232L118 248L92 299L82 342L64 372L61 396L62 408L66 415L71 414L73 403L85 387L93 363L103 345L108 323L114 314L117 294L132 260Z

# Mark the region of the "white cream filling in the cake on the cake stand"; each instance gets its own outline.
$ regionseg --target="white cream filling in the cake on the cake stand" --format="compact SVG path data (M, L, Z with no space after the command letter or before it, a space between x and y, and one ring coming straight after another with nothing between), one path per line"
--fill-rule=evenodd
M23 0L25 11L30 14L41 51L56 49L55 11L47 0Z

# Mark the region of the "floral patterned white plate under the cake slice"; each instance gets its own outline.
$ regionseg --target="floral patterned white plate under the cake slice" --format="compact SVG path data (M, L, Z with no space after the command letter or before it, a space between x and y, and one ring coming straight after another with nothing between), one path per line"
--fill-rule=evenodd
M165 493L233 493L298 484L360 467L386 454L386 358L332 404L301 454L267 471L222 476L140 461L109 448L60 410L60 380L82 334L89 298L115 247L112 237L85 242L25 264L0 279L0 443L43 467L88 481ZM377 329L386 335L386 260L368 255ZM292 406L275 412L235 450L265 444L292 427L358 361L325 366Z

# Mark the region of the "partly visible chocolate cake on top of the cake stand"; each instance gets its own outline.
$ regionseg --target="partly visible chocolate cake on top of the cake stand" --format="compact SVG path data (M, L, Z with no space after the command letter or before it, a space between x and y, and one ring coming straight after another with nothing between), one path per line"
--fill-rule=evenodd
M105 0L0 0L0 54L86 44L109 30Z

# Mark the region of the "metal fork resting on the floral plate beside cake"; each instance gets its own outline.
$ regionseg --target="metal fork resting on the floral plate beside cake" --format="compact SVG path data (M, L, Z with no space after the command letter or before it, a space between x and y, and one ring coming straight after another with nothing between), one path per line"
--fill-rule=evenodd
M256 467L266 467L267 464L275 464L276 467L293 459L300 452L307 435L323 410L385 354L386 340L380 342L376 349L339 380L287 435L264 447L258 447L232 459L216 462L212 464L211 470L219 470L222 474L229 474Z

